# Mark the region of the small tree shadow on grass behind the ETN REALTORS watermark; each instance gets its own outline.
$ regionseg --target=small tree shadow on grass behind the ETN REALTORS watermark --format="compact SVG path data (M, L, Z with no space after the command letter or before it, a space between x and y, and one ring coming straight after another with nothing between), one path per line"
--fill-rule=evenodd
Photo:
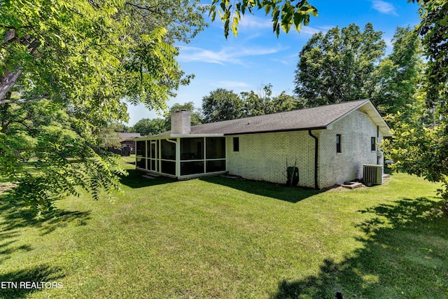
M5 286L5 288L0 288L0 298L26 298L29 293L45 289L45 284L42 282L48 283L46 288L50 288L49 283L52 283L52 288L61 288L63 285L57 283L62 277L64 275L60 268L48 265L0 274L0 281L3 281L3 286Z

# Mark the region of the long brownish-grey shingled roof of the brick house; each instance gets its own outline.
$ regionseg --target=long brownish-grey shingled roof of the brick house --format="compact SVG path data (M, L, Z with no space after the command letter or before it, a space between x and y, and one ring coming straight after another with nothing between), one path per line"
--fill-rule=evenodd
M388 126L381 119L372 102L369 99L360 99L358 101L343 102L340 104L330 104L314 108L239 118L236 120L224 120L217 123L194 125L191 127L191 134L231 135L325 129L328 125L335 122L335 120L345 116L346 113L356 110L360 106L365 106L367 103L369 104L367 105L369 106L367 113L372 113L371 117L374 116L377 121L382 122L381 128L384 130L381 131L388 132ZM171 134L171 131L155 136L167 134Z

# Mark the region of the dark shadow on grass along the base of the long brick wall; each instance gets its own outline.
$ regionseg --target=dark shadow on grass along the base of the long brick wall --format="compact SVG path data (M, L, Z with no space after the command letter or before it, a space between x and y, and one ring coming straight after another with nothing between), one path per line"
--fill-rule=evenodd
M292 203L300 202L300 200L304 200L307 197L311 197L322 192L322 190L286 187L276 183L229 179L222 176L203 177L202 181L217 183L219 185L228 186L247 193L272 197L277 200L284 200Z

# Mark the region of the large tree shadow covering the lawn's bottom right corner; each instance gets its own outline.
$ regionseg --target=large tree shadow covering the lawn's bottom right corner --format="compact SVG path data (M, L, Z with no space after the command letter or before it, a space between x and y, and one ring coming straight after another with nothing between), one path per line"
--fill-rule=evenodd
M323 260L318 275L280 281L272 298L448 298L448 218L426 197L359 211L358 249L340 263Z

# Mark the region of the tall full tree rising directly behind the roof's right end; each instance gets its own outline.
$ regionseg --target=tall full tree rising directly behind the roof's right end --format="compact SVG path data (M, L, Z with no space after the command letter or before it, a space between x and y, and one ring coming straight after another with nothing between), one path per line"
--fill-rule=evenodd
M314 34L300 51L295 71L295 94L307 106L319 106L370 97L375 64L386 43L371 23L364 31L351 24Z

